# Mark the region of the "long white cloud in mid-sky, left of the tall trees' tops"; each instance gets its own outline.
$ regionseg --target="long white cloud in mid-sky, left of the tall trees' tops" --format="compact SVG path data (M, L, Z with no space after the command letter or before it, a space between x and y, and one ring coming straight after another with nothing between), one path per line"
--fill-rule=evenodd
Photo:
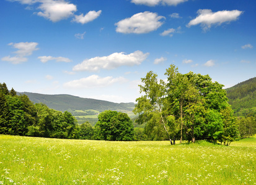
M124 52L115 52L105 57L94 57L84 60L81 64L77 64L73 67L74 71L99 71L103 69L113 69L123 65L133 66L139 65L143 62L149 53L143 53L141 51L135 51L131 54L125 54Z

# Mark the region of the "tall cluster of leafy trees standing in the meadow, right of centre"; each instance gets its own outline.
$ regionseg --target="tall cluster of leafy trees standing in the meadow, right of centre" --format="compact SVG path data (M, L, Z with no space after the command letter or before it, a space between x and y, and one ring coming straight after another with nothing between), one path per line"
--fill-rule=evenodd
M180 143L183 139L208 139L229 145L239 137L222 84L213 82L209 75L183 75L174 65L165 75L167 83L149 72L141 78L144 86L139 85L146 95L136 99L133 112L138 114L136 123L146 123L144 133L149 139L166 139L163 130L169 139L180 137Z

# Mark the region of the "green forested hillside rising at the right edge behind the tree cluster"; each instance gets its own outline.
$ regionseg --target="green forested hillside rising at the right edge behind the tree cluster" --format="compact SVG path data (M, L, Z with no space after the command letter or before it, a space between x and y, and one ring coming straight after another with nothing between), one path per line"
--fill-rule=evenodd
M256 114L256 77L227 88L226 91L235 115Z

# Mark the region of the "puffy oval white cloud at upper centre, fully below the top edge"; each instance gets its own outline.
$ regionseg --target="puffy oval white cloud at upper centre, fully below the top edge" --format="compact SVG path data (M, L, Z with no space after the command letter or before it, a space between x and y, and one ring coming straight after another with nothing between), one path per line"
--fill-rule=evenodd
M149 33L161 27L163 24L159 21L161 19L165 17L158 16L157 13L141 12L115 23L116 31L119 33Z

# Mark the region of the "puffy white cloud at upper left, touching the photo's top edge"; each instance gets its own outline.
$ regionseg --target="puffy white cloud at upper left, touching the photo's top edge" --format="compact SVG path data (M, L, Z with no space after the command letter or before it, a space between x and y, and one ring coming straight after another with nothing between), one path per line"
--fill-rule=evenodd
M58 22L62 19L68 19L76 12L76 6L65 1L39 1L42 4L38 7L42 12L37 15L50 19L52 22Z

